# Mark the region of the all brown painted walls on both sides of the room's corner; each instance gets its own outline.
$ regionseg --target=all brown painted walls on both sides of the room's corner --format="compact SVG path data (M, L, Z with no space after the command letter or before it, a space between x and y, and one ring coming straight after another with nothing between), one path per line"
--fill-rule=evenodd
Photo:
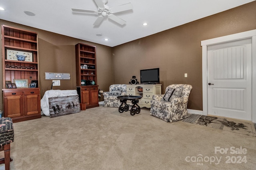
M76 88L74 47L81 42L96 46L100 89L106 91L110 84L128 84L132 76L136 76L140 81L141 69L159 67L162 93L170 84L191 84L193 89L188 108L202 110L200 42L256 29L255 11L256 1L113 48L5 20L0 20L0 25L10 25L38 33L41 97L46 90L50 90L52 83L51 80L45 80L45 72L68 72L71 75L70 80L61 80L61 86L55 86L53 89ZM2 63L2 57L0 62ZM184 73L188 73L187 78L184 78ZM3 109L2 97L0 109Z

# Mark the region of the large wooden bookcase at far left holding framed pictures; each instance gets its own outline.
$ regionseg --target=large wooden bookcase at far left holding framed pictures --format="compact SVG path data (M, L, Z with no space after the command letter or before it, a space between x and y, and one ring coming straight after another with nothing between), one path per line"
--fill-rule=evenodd
M4 117L13 122L41 117L38 73L38 36L36 32L2 25L2 68ZM15 54L22 53L25 61L18 61ZM25 88L8 88L6 81L28 80ZM32 80L37 88L26 88Z

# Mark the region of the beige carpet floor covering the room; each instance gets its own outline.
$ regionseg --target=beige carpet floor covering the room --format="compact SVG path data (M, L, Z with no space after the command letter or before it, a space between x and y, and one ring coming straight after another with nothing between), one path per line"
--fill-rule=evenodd
M11 170L256 167L256 137L184 121L166 123L149 115L148 109L131 116L100 106L60 117L42 116L14 123L14 135Z

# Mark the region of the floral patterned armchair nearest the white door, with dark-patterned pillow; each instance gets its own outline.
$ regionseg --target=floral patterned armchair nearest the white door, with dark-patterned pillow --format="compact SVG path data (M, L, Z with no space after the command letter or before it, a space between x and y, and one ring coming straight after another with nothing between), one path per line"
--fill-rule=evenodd
M165 90L165 94L153 95L150 115L166 122L175 122L188 117L188 97L192 86L188 84L172 84Z

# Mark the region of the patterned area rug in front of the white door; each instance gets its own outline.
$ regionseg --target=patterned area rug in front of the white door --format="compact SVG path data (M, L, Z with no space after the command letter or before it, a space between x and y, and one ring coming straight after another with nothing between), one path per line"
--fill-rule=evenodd
M189 114L182 121L256 137L256 124L238 119Z

